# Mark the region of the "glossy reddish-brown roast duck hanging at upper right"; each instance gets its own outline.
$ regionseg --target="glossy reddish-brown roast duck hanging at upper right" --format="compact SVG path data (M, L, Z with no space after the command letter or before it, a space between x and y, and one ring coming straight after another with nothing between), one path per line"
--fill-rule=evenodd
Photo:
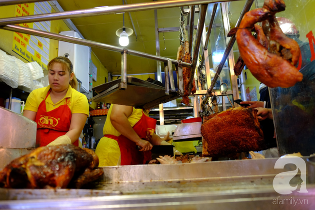
M287 88L302 81L303 75L295 67L300 57L299 44L282 32L275 17L284 9L283 0L265 0L262 8L247 12L239 27L229 32L228 36L236 35L240 53L234 67L236 75L246 65L268 87ZM257 22L262 22L262 28Z

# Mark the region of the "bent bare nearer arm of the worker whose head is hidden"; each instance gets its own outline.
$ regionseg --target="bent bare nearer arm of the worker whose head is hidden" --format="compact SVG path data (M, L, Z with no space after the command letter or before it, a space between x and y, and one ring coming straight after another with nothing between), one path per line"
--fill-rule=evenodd
M129 140L140 146L140 151L151 150L152 145L148 141L141 139L128 121L128 116L131 115L132 111L133 107L131 106L114 104L110 113L111 125Z

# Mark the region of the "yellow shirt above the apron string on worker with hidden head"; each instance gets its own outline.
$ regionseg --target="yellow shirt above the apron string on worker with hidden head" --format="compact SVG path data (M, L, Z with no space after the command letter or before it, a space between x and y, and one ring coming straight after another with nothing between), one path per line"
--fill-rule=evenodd
M112 106L113 104L110 105L110 110L107 113L105 125L103 128L103 135L110 134L114 136L119 136L120 133L111 125L111 122L110 122L110 113L112 110ZM146 112L143 112L143 113L146 116L149 116ZM131 127L134 127L134 125L136 125L136 123L141 119L141 117L142 117L142 109L133 108L132 113L130 114L130 116L128 116L128 121Z

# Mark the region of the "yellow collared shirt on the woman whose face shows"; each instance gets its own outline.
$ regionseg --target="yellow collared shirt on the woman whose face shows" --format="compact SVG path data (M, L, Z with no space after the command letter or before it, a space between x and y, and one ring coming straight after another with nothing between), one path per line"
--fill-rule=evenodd
M39 104L46 98L49 89L50 89L50 85L48 85L47 87L33 90L26 100L24 110L37 112ZM69 88L65 97L63 97L62 100L58 101L55 104L52 102L50 94L48 95L45 101L46 111L49 112L65 104L66 98L68 98L67 105L69 106L72 114L84 113L84 114L89 115L89 102L88 102L87 97L79 93L77 90L73 89L70 85L69 85Z

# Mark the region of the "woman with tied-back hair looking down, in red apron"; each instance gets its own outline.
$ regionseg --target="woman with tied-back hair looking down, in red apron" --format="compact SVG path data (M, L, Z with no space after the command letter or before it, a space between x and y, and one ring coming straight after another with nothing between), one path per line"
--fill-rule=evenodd
M47 67L49 85L31 92L23 116L37 123L36 147L78 146L89 115L88 100L76 90L78 81L69 59L54 58Z

